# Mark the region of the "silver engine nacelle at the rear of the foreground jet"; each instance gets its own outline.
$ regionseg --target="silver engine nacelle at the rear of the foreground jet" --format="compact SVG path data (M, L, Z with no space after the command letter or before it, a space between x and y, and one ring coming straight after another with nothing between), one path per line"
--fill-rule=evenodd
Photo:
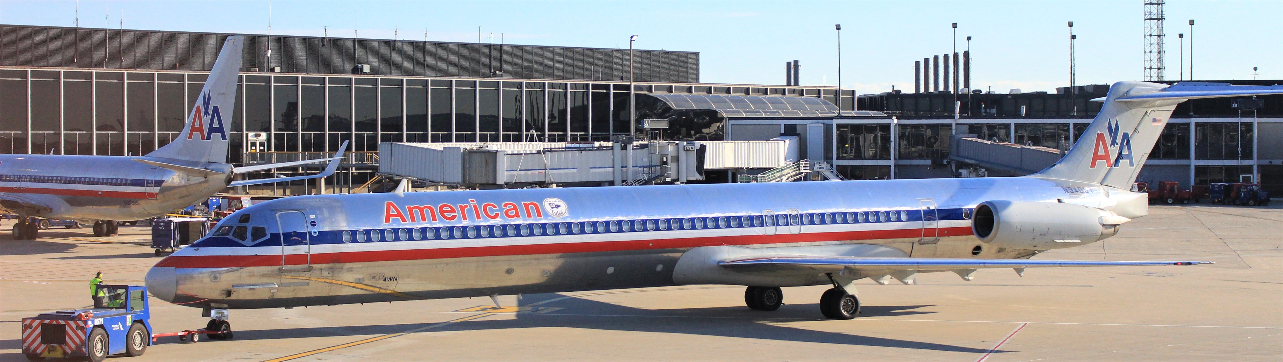
M990 200L975 207L971 231L994 246L1044 250L1105 240L1128 221L1111 211L1078 204Z

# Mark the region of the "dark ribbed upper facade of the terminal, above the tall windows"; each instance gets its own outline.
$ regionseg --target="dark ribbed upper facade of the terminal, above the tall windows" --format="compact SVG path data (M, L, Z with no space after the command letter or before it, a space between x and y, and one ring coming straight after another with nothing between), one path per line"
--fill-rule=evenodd
M0 24L0 67L207 71L230 33ZM264 60L264 49L272 56ZM282 73L627 81L627 49L246 35L241 64ZM699 53L634 50L638 82L699 82Z

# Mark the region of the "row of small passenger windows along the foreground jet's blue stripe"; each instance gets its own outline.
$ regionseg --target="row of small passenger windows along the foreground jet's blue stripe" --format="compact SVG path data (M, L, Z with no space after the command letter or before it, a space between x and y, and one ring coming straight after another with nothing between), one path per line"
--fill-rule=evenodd
M343 231L343 243L473 239L504 236L572 235L594 232L630 232L656 230L702 230L792 225L829 225L908 221L908 212L788 213L767 216L652 218L633 221L584 221L490 226L440 226Z

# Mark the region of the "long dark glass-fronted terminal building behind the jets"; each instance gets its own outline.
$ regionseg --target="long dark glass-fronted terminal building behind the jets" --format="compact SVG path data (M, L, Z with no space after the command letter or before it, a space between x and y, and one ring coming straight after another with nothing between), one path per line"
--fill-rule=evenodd
M0 24L0 153L141 155L164 145L181 131L226 36ZM822 86L702 83L699 53L635 50L633 72L629 59L626 49L246 35L230 162L321 158L350 141L343 172L321 185L241 191L305 194L323 185L362 193L380 178L380 144L563 148L631 136L776 140L771 145L792 153L771 158L824 162L851 180L974 176L960 171L974 166L951 159L955 135L1066 149L1100 107L1088 99L1107 91L1078 87L1076 109L1064 90L958 94L955 121L947 91L857 96ZM1243 118L1229 100L1178 107L1182 119L1169 123L1142 181L1188 187L1246 176L1283 191L1283 99L1261 99ZM667 125L644 128L643 119ZM702 180L692 182L736 182L781 166L718 164L701 167Z

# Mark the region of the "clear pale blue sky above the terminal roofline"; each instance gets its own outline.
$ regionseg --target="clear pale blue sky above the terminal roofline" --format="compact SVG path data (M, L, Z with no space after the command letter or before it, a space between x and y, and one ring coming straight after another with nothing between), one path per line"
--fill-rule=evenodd
M958 51L973 36L973 86L1048 90L1069 83L1067 21L1078 35L1078 83L1143 78L1144 6L1129 1L91 1L81 26L272 32L408 40L627 47L701 53L701 80L784 83L784 62L802 63L803 85L837 83L843 24L843 87L861 94L912 90L913 60ZM0 0L0 23L71 26L77 1ZM1197 19L1200 80L1283 80L1283 3L1170 0L1168 78L1179 74L1177 33ZM1188 45L1185 62L1188 63ZM1188 64L1187 64L1188 67ZM1187 69L1188 72L1188 69ZM1188 74L1187 74L1188 77Z

